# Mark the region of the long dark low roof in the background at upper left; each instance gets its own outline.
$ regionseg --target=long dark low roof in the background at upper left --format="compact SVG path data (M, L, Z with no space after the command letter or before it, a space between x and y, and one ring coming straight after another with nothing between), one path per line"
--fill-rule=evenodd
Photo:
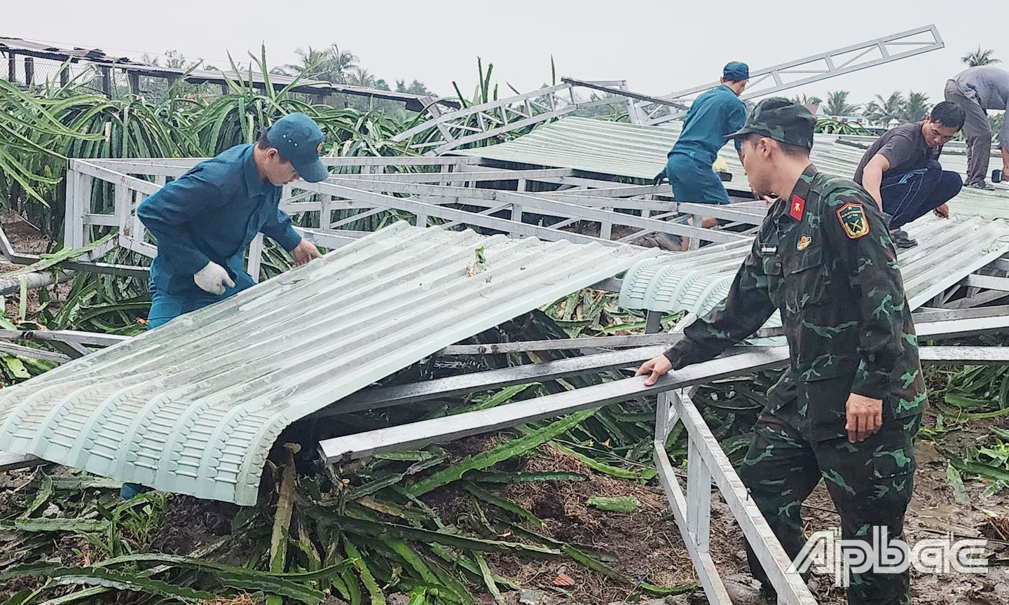
M47 58L57 62L71 60L72 63L88 63L100 68L112 68L130 74L149 76L152 78L164 78L175 80L185 77L186 82L192 84L219 84L226 86L228 80L243 81L260 87L265 86L262 74L256 71L236 73L232 71L219 70L180 70L133 60L127 56L110 56L101 48L73 48L60 47L51 44L44 44L21 38L0 37L0 51L12 56L22 54L37 58ZM276 90L282 90L295 83L296 79L290 76L270 75L269 83ZM297 79L298 84L292 89L299 93L309 93L314 95L345 94L363 97L374 97L387 101L399 101L407 104L407 109L411 111L423 111L427 106L438 102L449 107L459 107L457 101L437 100L434 97L424 95L412 95L409 93L398 93L395 91L383 91L360 86L350 86L336 84L321 80L309 80L306 78Z

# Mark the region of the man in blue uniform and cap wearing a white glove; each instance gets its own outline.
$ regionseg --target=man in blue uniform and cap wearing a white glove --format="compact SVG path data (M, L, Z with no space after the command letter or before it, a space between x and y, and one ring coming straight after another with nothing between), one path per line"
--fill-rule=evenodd
M289 114L255 143L197 164L140 204L137 216L157 238L148 330L252 286L243 266L257 233L290 250L298 264L321 257L277 205L282 186L329 175L319 159L322 139L311 118Z

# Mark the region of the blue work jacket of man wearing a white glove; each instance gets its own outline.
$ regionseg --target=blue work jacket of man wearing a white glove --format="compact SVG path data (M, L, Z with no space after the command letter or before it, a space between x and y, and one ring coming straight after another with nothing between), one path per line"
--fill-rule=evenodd
M162 187L136 210L157 238L150 279L159 291L201 292L193 275L209 261L232 276L259 232L292 250L301 242L281 210L282 188L259 178L254 145L236 145Z

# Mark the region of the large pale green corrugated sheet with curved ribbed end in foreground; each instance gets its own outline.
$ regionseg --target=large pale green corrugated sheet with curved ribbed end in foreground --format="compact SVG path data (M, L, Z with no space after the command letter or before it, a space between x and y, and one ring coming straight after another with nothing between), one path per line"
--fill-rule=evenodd
M292 421L656 254L398 223L0 390L0 450L252 504Z

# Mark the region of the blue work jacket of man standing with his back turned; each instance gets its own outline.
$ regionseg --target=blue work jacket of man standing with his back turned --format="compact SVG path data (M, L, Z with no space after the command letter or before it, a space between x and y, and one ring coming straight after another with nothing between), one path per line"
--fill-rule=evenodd
M705 165L714 163L725 136L743 128L747 121L747 106L733 89L725 85L711 89L690 105L683 130L669 154L684 153ZM736 141L739 150L742 142Z

